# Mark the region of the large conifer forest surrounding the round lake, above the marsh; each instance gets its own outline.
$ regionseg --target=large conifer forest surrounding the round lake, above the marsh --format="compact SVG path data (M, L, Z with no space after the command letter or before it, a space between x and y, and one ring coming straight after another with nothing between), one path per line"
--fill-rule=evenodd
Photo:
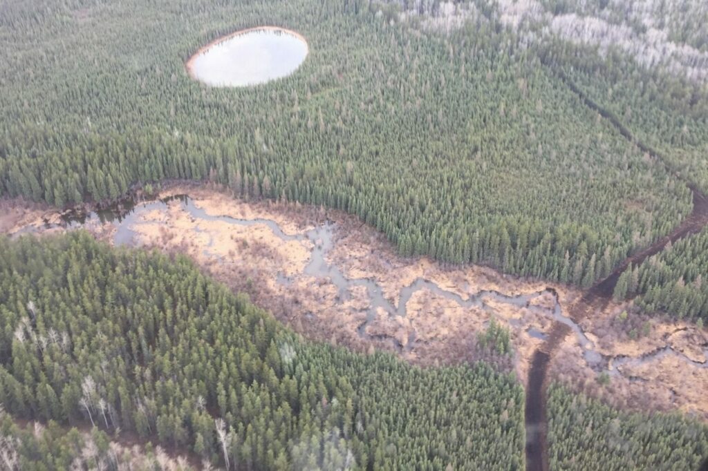
M403 255L581 286L691 209L685 185L482 14L445 36L367 2L71 1L45 14L35 1L0 18L6 196L62 206L209 180L343 209ZM259 24L307 37L295 74L243 89L185 74L200 45Z

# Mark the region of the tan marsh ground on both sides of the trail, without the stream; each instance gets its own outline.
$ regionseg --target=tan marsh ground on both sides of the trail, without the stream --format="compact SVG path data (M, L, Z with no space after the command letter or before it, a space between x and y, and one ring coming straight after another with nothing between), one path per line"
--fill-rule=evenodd
M543 292L549 287L556 291L564 315L569 315L569 307L582 295L567 286L517 279L487 267L448 267L426 257L399 257L380 233L339 211L299 204L246 202L193 185L170 187L160 197L176 194L190 194L195 206L211 216L269 219L292 236L304 236L324 221L335 222L335 243L326 261L349 279L375 281L384 298L394 306L398 306L401 289L419 278L432 281L464 300L480 291L515 296ZM57 214L48 216L58 218ZM17 219L13 226L37 218L32 213L31 217ZM112 239L115 233L110 224L93 223L87 228L104 240ZM249 293L253 302L306 337L346 345L356 351L394 351L413 364L455 364L484 357L475 348L476 336L493 317L509 327L515 351L510 368L526 381L532 355L544 343L527 330L534 327L548 334L555 325L550 316L555 299L549 292L532 297L528 306L514 306L490 295L481 298L481 307L465 308L425 287L413 293L406 304L405 317L379 309L365 324L370 298L364 286L350 287L346 296L341 297L329 278L303 273L313 249L307 238L284 241L265 224L236 226L194 219L176 200L166 210L139 216L132 230L137 233L140 245L190 256L215 279L236 291ZM700 346L708 344L705 330L632 314L619 320L619 313L627 307L609 303L601 312L595 309L581 320L598 352L605 356L641 356L670 344L691 359L704 361ZM632 330L641 335L634 338ZM708 419L708 404L699 393L708 388L705 376L708 370L698 371L700 368L671 357L652 362L651 367L633 367L632 371L628 368L622 372L624 376L613 375L610 385L603 386L598 383L598 373L583 360L574 335L567 336L559 349L561 354L555 355L552 362L554 378L617 405L661 410L678 407ZM672 371L664 371L665 368ZM683 373L690 380L685 380Z

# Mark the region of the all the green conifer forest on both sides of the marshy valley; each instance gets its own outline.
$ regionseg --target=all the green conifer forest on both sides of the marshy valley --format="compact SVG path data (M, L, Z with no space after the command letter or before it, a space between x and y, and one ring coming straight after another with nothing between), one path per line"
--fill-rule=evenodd
M0 198L63 208L215 182L355 214L404 256L588 288L708 193L708 8L650 3L455 1L450 28L435 0L6 0ZM542 14L505 18L527 7ZM668 32L656 44L695 49L683 62L655 63L656 44L628 53L656 36L650 10ZM564 36L581 17L635 42ZM305 37L295 74L249 88L190 79L199 47L258 25ZM630 266L615 299L702 327L707 267L704 229ZM469 335L512 361L505 327ZM678 414L620 412L559 385L548 397L552 469L708 457L706 426ZM87 456L119 468L122 434L234 470L520 470L524 400L498 365L418 368L308 342L185 257L86 233L0 235L12 470ZM162 466L147 448L137 466Z

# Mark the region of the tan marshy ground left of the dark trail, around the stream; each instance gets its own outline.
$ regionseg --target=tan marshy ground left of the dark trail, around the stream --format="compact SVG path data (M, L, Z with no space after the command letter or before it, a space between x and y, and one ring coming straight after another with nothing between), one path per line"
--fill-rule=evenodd
M338 227L336 243L327 261L340 267L350 279L372 279L382 287L384 297L398 306L401 289L418 278L428 279L440 288L468 299L481 290L505 294L532 293L546 288L544 283L527 283L484 267L448 268L428 259L402 259L375 231L337 211L323 211L297 204L244 202L225 194L195 187L172 187L161 198L189 193L195 206L210 216L240 219L269 219L289 235L304 235L316 223L327 219ZM115 229L91 229L101 238L110 238ZM265 224L235 226L221 221L193 219L173 200L168 209L149 211L132 226L139 245L193 258L219 281L234 290L249 293L254 302L271 310L278 319L307 337L344 344L358 351L375 349L399 351L409 361L421 365L450 364L476 358L476 334L486 328L493 315L509 325L515 343L515 369L525 378L528 358L539 340L525 332L550 325L547 319L525 308L483 298L486 309L463 308L453 300L428 289L413 293L407 315L389 315L380 309L367 320L370 300L363 286L351 287L346 298L329 279L303 274L312 243L284 241ZM279 281L287 277L288 284ZM561 296L566 291L559 289ZM532 303L551 309L552 296L539 296ZM409 339L415 343L409 345Z

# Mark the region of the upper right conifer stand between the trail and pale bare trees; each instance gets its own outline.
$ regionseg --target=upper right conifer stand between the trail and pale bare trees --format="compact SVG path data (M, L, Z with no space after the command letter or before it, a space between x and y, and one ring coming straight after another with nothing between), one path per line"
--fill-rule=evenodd
M708 193L708 86L648 71L615 52L599 57L586 47L544 52L578 88L622 122L671 171Z

